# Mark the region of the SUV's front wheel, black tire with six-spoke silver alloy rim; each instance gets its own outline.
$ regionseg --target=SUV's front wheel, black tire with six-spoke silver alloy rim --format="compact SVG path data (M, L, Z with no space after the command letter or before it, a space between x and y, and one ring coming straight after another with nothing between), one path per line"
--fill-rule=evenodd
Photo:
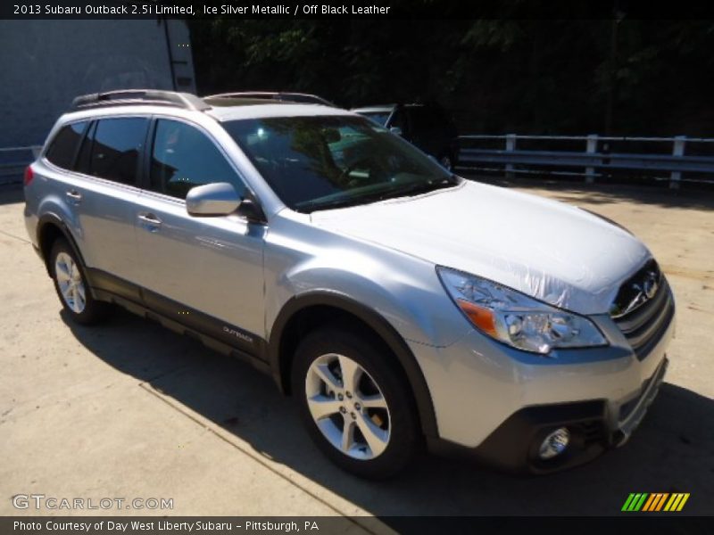
M352 370L349 375L356 381L342 380L343 370ZM346 472L386 479L419 451L421 434L409 384L371 333L342 325L309 333L295 352L292 379L312 440ZM316 416L323 410L328 416Z

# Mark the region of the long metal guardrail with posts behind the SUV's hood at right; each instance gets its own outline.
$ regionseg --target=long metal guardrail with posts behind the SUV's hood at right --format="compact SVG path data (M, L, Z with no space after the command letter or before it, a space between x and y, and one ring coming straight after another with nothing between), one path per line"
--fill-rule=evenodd
M585 182L594 182L595 177L607 174L609 170L632 170L643 173L667 173L669 187L677 189L681 182L714 182L714 156L685 155L686 144L712 144L710 137L613 137L613 136L460 136L460 167L499 171L505 170L508 177L515 173L541 174L545 168L566 169L550 171L552 174L585 177ZM536 151L517 148L518 141L528 142L582 142L584 152L577 151ZM484 141L502 141L503 149L485 149L465 146ZM598 150L602 144L671 144L668 154L654 152L606 152ZM498 166L488 167L488 166ZM533 169L535 168L535 169ZM582 172L574 168L584 168ZM682 177L683 173L696 173L698 177ZM706 175L711 175L707 177Z

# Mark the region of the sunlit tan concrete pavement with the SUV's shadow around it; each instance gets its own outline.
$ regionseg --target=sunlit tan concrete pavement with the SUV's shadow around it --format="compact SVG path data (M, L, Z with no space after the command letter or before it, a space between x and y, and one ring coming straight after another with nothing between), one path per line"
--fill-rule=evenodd
M516 478L425 457L394 481L360 481L313 448L270 378L118 311L71 325L22 222L21 192L0 191L0 514L17 494L172 498L170 510L92 514L371 516L617 514L629 492L681 491L686 513L714 504L714 201L652 188L519 188L602 213L643 238L678 305L671 366L641 428L590 465ZM467 424L467 423L465 423Z

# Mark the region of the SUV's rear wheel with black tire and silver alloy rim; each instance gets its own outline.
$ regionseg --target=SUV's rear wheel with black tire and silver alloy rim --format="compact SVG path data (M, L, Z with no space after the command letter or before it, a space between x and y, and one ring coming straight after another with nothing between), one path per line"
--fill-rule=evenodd
M92 297L84 266L63 238L58 238L52 244L50 269L54 290L72 321L80 325L93 325L104 319L108 311L107 303Z

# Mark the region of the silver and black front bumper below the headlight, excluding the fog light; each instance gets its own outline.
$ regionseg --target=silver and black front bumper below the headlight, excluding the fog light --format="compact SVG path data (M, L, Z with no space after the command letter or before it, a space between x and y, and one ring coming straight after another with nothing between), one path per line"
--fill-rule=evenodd
M552 358L511 350L475 330L444 348L412 345L436 415L438 436L427 437L429 449L544 473L625 443L666 373L674 317L646 355L635 354L610 317L592 318L610 346ZM558 427L571 433L569 451L539 461L535 450Z

